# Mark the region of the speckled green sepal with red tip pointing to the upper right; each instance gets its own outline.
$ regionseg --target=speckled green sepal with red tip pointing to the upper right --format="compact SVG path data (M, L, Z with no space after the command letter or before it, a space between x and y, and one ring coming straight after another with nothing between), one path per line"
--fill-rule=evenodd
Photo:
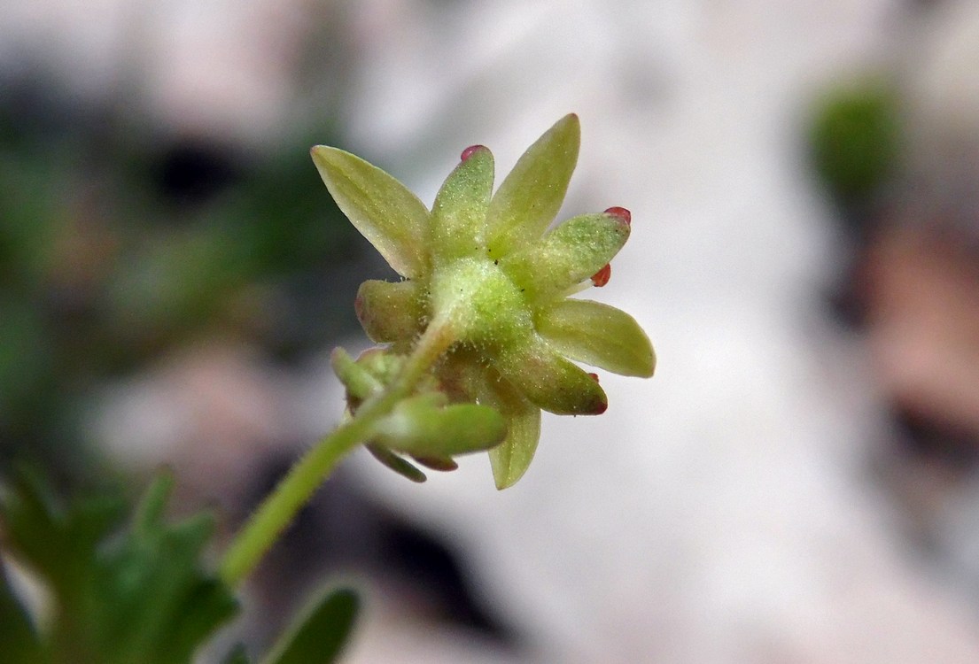
M629 224L602 212L564 222L536 243L500 261L528 297L546 297L582 283L604 267L629 239Z

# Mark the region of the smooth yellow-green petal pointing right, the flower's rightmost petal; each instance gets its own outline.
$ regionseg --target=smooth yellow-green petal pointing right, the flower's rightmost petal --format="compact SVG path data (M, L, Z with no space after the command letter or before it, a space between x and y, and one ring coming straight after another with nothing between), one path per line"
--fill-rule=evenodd
M623 376L648 378L653 345L629 314L590 300L566 299L536 317L537 332L562 355Z

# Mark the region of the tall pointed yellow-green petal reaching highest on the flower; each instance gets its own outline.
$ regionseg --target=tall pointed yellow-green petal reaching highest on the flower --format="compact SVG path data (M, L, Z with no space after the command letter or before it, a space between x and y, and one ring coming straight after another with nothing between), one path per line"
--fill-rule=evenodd
M582 127L578 115L558 120L517 161L489 202L490 257L533 242L561 208L578 163Z

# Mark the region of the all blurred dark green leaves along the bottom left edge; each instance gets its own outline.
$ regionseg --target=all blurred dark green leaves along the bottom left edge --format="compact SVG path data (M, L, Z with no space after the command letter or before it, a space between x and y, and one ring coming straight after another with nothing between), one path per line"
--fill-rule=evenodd
M159 476L127 516L115 494L63 504L33 474L17 476L0 501L5 545L43 584L49 605L44 619L26 610L0 564L5 664L187 664L237 614L237 600L203 560L210 514L164 519L172 485ZM336 661L357 609L350 590L324 594L262 661ZM250 659L238 647L225 661Z

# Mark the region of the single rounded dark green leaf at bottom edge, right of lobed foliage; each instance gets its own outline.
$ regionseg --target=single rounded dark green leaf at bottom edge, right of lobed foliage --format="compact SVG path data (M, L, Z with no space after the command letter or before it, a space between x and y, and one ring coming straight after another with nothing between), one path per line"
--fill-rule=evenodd
M359 609L350 589L328 593L275 644L263 664L331 664L350 641Z

